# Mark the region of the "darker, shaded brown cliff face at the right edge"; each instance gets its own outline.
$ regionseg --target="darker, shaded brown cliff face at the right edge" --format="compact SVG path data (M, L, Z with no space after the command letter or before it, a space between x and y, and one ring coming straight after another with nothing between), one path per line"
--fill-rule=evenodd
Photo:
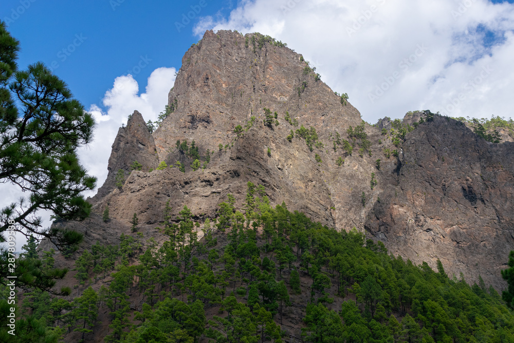
M462 122L434 118L403 143L396 185L380 194L364 227L393 254L468 281L503 288L514 247L514 144L492 144Z

